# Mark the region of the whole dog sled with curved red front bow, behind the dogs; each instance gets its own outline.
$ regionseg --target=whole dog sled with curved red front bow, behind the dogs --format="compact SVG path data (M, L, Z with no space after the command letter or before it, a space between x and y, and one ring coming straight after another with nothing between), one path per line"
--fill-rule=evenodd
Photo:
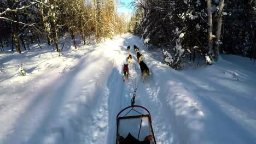
M143 106L125 107L117 115L116 144L156 144L150 112Z

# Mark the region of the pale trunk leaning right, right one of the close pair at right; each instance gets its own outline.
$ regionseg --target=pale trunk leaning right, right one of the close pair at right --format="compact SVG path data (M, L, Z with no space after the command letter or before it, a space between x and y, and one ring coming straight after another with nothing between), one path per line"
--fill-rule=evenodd
M217 32L216 32L216 47L214 47L214 61L218 61L219 59L219 40L222 33L222 11L224 8L224 0L219 2L219 11L217 17Z

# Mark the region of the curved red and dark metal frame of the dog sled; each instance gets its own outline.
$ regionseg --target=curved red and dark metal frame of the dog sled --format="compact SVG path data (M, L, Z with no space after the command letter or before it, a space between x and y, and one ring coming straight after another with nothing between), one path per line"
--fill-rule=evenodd
M144 110L146 110L146 111L148 112L148 114L147 114L147 115L143 115L142 113L140 113L140 112L134 110L134 109L133 109L134 107L139 107L139 108L141 108L141 109L144 109ZM141 114L141 115L126 116L126 115L130 112L130 111L128 111L123 117L119 117L119 115L120 115L123 111L125 111L125 110L127 110L127 109L130 109L130 108L131 108L130 111L132 111L132 110L133 110L133 111L136 111L136 112L138 112L138 113ZM117 135L116 135L116 136L118 136L118 128L119 128L119 120L120 120L120 119L132 119L132 118L144 118L144 117L148 117L148 120L149 120L149 123L150 123L150 127L151 127L151 131L152 131L152 135L153 135L153 139L154 139L154 144L156 144L155 134L154 134L154 130L153 130L153 127L152 127L152 121L151 121L150 112L149 112L145 107L140 106L140 105L127 106L127 107L125 107L123 110L121 110L121 111L118 113L118 115L117 115ZM117 139L115 140L115 143L118 144L118 140L117 140Z

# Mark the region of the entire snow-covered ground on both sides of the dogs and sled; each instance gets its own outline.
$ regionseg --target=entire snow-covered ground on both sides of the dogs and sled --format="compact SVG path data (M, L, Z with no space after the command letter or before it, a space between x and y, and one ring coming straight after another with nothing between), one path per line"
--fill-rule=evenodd
M256 143L252 61L223 55L210 67L176 71L142 42L125 34L61 57L46 47L0 53L0 143L115 143L115 117L133 92L121 75L127 45L139 47L153 73L139 82L132 48L136 104L151 112L157 143Z

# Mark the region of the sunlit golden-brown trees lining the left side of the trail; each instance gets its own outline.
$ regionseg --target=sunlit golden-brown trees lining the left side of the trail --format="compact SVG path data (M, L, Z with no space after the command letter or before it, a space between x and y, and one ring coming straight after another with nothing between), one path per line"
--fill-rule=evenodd
M22 49L29 50L30 44L40 45L46 40L60 52L60 38L65 41L70 36L77 49L75 35L83 44L89 39L98 43L127 29L125 17L117 15L117 2L113 0L8 0L1 1L0 12L1 51L4 45L10 45L11 51L21 53Z

